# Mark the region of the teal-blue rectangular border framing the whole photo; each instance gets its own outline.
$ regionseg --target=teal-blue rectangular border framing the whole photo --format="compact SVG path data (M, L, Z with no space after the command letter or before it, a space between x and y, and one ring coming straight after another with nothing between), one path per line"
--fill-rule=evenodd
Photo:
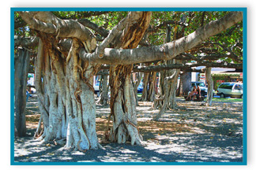
M242 11L243 12L243 162L14 162L14 12L15 11ZM247 165L247 8L11 8L10 9L10 164L11 165Z

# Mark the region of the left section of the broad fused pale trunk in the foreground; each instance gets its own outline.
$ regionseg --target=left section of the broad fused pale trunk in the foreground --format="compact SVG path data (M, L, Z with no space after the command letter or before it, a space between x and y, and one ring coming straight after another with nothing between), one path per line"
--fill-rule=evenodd
M36 58L35 80L40 113L43 118L43 135L40 136L40 139L43 139L44 142L66 137L66 120L64 119L66 93L63 90L65 76L62 58L49 49L48 45L49 42L45 38L43 41L40 40ZM42 131L38 128L35 137L41 133Z

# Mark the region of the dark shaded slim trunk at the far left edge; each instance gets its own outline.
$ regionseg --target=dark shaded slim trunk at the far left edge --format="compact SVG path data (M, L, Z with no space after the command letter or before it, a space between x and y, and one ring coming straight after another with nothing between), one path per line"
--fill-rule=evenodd
M18 49L17 57L14 61L14 125L15 135L26 135L26 87L28 79L30 52L24 49Z

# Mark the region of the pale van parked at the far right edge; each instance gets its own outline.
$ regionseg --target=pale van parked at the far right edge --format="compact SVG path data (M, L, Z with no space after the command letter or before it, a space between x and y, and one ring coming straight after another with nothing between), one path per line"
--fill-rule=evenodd
M243 98L243 83L221 83L217 88L220 98Z

